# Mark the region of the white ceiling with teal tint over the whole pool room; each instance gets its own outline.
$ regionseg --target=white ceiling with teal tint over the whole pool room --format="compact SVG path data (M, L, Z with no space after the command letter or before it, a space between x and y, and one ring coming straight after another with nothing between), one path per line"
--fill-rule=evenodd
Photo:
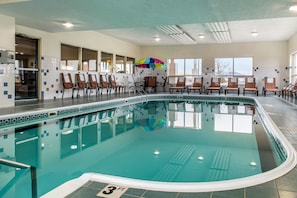
M288 40L297 33L293 0L0 0L0 14L48 32L94 30L138 45L195 45ZM72 22L67 29L63 22ZM227 24L219 42L207 24ZM178 25L194 39L178 41L158 26ZM216 32L219 33L221 29ZM258 36L251 36L257 31ZM199 35L205 38L200 39ZM155 42L153 37L160 37Z

